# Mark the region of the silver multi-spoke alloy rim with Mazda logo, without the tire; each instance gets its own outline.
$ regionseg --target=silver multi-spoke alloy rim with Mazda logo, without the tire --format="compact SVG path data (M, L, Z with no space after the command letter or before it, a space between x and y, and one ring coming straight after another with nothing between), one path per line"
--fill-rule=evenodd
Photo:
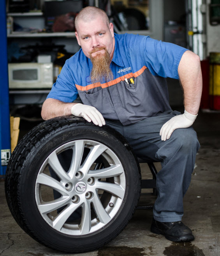
M68 149L72 150L72 160L66 172L58 155ZM83 159L85 149L88 154ZM97 158L104 160L102 169L94 167ZM51 177L48 165L58 179ZM118 213L125 187L123 166L109 147L94 140L74 140L55 149L42 164L35 184L35 200L51 227L69 235L87 235L106 226ZM53 198L53 190L60 193L58 199ZM57 213L61 207L63 210ZM68 222L79 208L81 217Z

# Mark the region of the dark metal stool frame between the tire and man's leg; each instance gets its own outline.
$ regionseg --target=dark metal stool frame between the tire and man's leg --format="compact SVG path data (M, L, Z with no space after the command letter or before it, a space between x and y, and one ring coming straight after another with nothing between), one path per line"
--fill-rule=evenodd
M157 196L157 169L154 165L155 161L152 161L150 159L143 159L143 158L137 158L139 163L146 163L148 164L148 167L151 171L151 174L153 176L153 179L142 179L141 180L141 188L153 188L153 195ZM153 209L153 205L148 206L137 206L137 209L144 210L144 209Z

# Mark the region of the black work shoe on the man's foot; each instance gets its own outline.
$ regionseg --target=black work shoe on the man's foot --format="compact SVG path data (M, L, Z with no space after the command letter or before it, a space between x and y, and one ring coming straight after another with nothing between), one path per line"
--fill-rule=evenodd
M150 230L155 234L162 234L165 238L174 242L188 242L194 240L191 229L185 226L181 221L160 222L153 219Z

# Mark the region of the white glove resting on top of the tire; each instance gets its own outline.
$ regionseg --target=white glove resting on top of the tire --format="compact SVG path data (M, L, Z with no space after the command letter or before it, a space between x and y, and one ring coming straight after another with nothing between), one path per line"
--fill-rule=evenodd
M72 106L71 113L74 116L83 117L88 122L92 121L94 124L99 126L106 124L102 114L96 108L89 105L77 103Z

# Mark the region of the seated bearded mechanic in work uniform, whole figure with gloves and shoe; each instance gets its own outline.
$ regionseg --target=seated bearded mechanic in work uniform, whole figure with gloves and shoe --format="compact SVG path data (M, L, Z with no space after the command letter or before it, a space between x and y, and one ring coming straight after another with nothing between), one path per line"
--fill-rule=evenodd
M181 222L199 142L192 124L202 92L200 59L147 36L118 35L106 13L86 7L75 20L81 50L66 61L42 106L43 119L73 114L120 132L137 156L160 161L151 231L194 239ZM169 106L165 77L180 79L185 112ZM73 103L80 96L83 104Z

